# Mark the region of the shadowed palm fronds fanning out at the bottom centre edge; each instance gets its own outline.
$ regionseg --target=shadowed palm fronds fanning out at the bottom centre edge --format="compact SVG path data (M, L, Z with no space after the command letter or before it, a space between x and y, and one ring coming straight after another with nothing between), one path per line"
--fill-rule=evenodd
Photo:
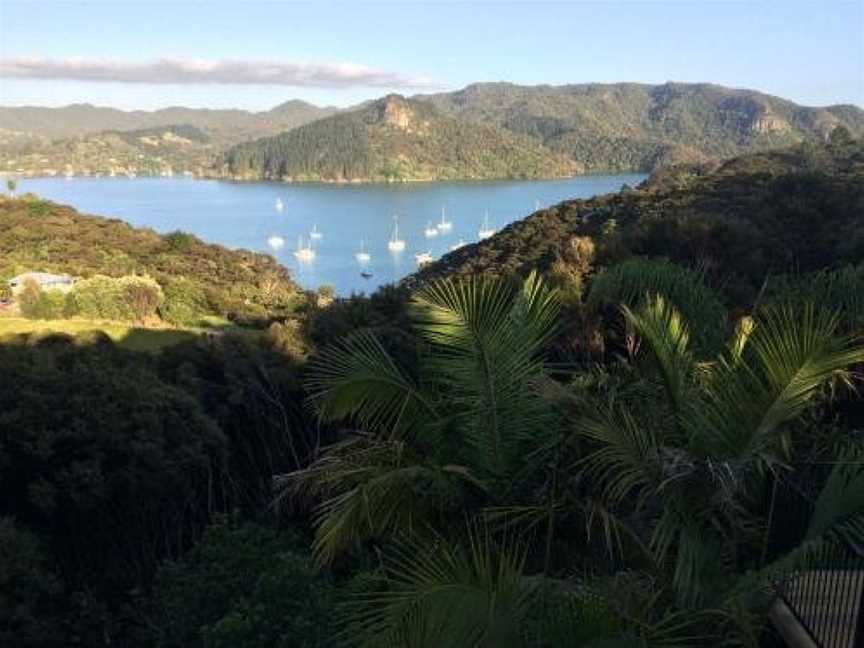
M538 596L523 576L525 556L524 545L499 545L477 525L464 544L399 543L385 556L377 590L347 604L345 633L382 647L521 646Z

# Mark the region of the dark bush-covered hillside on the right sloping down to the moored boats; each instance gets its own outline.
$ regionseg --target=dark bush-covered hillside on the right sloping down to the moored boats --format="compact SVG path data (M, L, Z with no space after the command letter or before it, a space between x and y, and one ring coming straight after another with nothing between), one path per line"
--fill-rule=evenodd
M535 212L406 281L546 270L574 236L593 239L601 265L668 257L747 303L768 273L864 261L864 143L838 131L828 144L663 170L635 190Z

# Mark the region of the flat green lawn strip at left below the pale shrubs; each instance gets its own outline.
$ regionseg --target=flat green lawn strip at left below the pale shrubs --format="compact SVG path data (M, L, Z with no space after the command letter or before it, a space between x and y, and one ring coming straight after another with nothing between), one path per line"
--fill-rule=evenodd
M42 336L65 333L77 336L93 331L102 331L118 346L126 349L151 352L192 340L201 334L201 330L138 328L118 322L98 320L30 320L23 317L0 317L0 342L17 335Z

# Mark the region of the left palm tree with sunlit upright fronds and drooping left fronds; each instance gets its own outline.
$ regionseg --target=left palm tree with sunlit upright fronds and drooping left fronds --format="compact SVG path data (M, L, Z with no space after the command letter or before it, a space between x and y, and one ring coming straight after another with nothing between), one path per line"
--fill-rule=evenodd
M320 501L321 561L363 540L446 528L448 513L500 501L518 485L526 455L556 433L557 412L536 385L557 314L555 291L534 274L519 287L438 281L411 302L416 372L369 331L312 363L308 389L321 419L357 428L282 480L285 492Z

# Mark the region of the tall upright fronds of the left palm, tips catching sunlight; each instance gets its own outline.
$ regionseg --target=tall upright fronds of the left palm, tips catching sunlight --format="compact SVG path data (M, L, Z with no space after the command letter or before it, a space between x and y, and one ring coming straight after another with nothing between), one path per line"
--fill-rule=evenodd
M555 412L534 384L557 313L555 291L535 275L518 291L481 277L415 295L412 316L431 347L424 369L446 395L478 475L507 475L553 427Z

